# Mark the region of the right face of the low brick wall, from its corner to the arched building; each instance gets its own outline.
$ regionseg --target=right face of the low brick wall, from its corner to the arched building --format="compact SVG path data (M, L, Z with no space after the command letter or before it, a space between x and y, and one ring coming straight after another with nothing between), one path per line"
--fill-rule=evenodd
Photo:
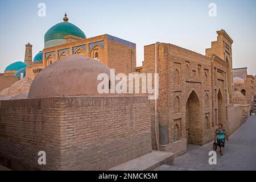
M61 169L104 170L151 152L148 97L63 102Z

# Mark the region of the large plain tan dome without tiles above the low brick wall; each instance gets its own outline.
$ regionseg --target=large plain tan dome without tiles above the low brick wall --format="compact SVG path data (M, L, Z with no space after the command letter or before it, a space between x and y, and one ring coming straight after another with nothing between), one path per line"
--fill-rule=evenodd
M64 57L36 76L28 98L102 96L97 90L100 73L110 78L110 69L97 60L81 55Z

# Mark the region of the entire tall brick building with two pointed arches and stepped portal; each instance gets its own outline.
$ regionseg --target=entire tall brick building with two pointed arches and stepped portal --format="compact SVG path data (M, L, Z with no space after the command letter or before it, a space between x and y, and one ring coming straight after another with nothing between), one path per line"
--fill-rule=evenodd
M180 155L187 151L187 144L212 141L218 123L232 134L245 121L247 106L233 105L233 40L224 30L217 34L206 56L167 43L144 47L143 67L137 71L155 73L156 54L159 73L157 128L151 114L154 150L157 138L160 150Z

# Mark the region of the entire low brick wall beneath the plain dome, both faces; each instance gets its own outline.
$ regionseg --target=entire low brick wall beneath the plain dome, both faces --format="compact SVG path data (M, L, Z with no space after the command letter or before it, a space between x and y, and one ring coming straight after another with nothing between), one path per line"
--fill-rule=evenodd
M150 129L147 97L1 101L0 162L14 169L104 170L150 152ZM38 165L39 151L46 151L46 166Z

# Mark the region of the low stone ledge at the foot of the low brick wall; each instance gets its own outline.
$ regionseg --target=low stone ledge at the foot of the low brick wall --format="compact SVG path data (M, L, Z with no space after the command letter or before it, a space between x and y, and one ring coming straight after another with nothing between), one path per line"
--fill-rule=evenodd
M120 164L108 171L152 171L164 164L171 165L174 162L174 154L171 152L152 151L139 158Z

